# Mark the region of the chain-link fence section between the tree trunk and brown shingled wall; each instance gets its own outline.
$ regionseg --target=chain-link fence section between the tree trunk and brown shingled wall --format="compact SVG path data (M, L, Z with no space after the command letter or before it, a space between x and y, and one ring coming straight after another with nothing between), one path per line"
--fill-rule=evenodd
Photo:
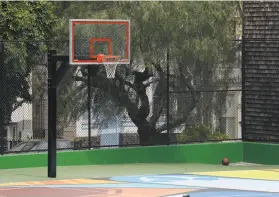
M169 133L172 142L241 139L241 41L230 53L192 64L170 63ZM170 57L170 59L172 59Z

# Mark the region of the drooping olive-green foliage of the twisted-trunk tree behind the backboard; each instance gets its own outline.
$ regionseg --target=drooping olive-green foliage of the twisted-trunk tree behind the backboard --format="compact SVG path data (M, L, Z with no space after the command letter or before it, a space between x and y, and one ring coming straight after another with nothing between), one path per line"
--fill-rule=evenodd
M171 90L226 90L232 80L231 74L235 63L236 49L232 47L231 41L235 38L236 5L235 2L179 1L57 2L55 14L59 18L60 29L57 37L60 39L68 38L68 19L70 18L130 19L131 59L133 60L131 68L137 68L139 65L151 66L155 62L164 70L166 51L169 49L171 52ZM216 71L222 72L222 75L216 77ZM71 72L74 73L74 71ZM59 92L61 104L58 106L61 106L58 113L64 115L67 120L75 119L86 111L86 69L81 73L82 85L77 85L70 77L68 81L63 82L65 86L61 84L61 87L68 88L67 91L64 91L64 95L60 95ZM98 80L101 79L98 78ZM127 84L131 82L130 79L128 76L122 78L122 80L127 81ZM165 81L164 78L160 80L161 82ZM164 111L160 109L159 104L164 103L162 92L166 92L165 88L165 83L156 86L154 92L158 95L154 96L154 103L150 103L154 109L152 110L153 114L149 114L150 116ZM96 95L98 94L100 97L99 101L102 101L101 105L98 106L110 106L106 104L117 99L109 97L108 89L101 87L101 85L93 89L94 94L98 92ZM138 102L137 104L140 106L139 96L136 95L135 91L129 92L131 89L125 86L122 90L128 95L133 95L133 98L131 96L130 99L133 102ZM226 93L218 95L213 93L193 94L196 95L190 95L190 93L187 96L172 95L172 103L178 103L177 106L171 107L174 123L181 119L185 121L179 121L180 125L185 123L189 119L190 112L194 109L198 111L195 116L204 116L204 118L200 118L203 120L201 123L204 124L211 122L214 110L215 113L220 111L218 118L224 113L221 106L223 106ZM138 99L134 99L134 97L138 97ZM114 105L115 108L123 107L121 103L114 103ZM93 110L105 111L104 108ZM109 114L107 115L109 116ZM174 125L173 127L179 126L179 124L172 125ZM160 130L160 128L156 129ZM202 134L202 132L198 135L205 135L205 138L224 137L217 132L211 136ZM197 138L198 136L195 139Z

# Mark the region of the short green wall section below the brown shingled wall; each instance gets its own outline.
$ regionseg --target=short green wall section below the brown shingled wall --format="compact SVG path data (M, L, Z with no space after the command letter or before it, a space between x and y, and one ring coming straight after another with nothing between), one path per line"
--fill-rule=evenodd
M279 145L268 143L243 142L243 161L266 165L278 165Z

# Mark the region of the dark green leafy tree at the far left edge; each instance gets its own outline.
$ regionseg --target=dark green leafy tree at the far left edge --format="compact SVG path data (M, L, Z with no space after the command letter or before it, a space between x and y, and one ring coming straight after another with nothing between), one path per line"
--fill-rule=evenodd
M49 2L0 2L0 131L11 113L31 102L31 72L53 36L56 18Z

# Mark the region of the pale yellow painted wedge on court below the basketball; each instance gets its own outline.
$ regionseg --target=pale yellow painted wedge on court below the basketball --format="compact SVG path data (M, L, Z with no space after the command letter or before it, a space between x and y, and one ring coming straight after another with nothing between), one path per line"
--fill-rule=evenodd
M233 170L233 171L215 171L215 172L196 172L195 175L247 178L261 180L279 180L279 169L268 170Z

